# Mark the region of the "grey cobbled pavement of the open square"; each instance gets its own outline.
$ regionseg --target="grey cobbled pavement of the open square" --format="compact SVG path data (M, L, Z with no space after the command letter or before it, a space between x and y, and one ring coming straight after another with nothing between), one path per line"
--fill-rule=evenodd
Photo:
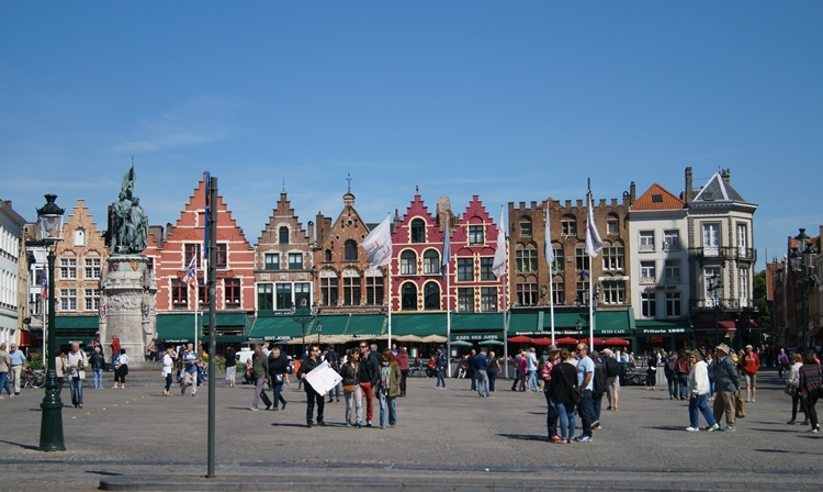
M38 451L43 390L0 401L0 490L821 490L823 434L790 426L791 400L774 369L736 433L687 433L688 402L665 388L620 390L589 444L546 441L542 393L495 398L470 381L409 378L396 428L347 428L343 403L327 427L305 427L305 393L284 411L250 412L253 388L216 383L215 476L207 467L207 387L162 396L158 371L132 371L125 390L84 391L63 411L66 451ZM88 381L91 382L90 380ZM64 402L70 401L68 387ZM375 407L375 423L379 407ZM701 417L701 426L706 424ZM579 427L579 418L578 418ZM579 431L578 431L579 434Z

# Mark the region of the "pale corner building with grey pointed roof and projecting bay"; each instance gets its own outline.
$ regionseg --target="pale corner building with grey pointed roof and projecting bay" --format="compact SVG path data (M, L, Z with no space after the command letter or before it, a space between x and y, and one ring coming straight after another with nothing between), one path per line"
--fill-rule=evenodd
M729 337L732 342L740 326L747 328L747 335L763 329L749 322L756 312L753 215L757 205L732 188L731 176L723 169L702 188L694 189L691 168L686 168L684 201L688 208L689 276L694 279L690 311L698 339L709 345L714 343L715 306L721 340ZM720 280L719 289L712 289L712 279Z

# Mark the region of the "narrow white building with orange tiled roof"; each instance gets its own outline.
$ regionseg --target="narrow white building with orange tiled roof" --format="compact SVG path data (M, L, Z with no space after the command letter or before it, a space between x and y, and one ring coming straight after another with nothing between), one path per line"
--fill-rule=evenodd
M688 343L689 244L686 202L654 183L631 205L631 303L640 349Z

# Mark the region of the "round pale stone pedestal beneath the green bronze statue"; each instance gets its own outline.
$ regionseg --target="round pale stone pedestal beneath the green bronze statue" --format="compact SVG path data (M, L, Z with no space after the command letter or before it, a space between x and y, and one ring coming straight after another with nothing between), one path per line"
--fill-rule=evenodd
M100 281L100 343L112 360L112 336L126 349L129 368L148 366L146 347L156 337L157 280L151 260L144 255L113 255L109 271Z

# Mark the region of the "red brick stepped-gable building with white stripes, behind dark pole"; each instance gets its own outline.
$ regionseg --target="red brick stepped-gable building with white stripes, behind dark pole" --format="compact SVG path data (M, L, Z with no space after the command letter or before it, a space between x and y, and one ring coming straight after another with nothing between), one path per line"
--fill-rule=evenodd
M150 226L144 255L153 258L157 278L157 334L166 342L183 343L193 338L193 317L173 316L201 313L208 306L208 289L204 282L203 257L205 226L205 180L200 180L194 194L189 197L177 222ZM232 217L222 195L212 204L217 213L217 310L218 342L238 342L246 331L246 314L255 310L255 250L243 230ZM182 281L192 257L198 268L198 291ZM201 321L202 326L202 321ZM226 338L232 336L233 338ZM245 338L244 338L245 339Z

